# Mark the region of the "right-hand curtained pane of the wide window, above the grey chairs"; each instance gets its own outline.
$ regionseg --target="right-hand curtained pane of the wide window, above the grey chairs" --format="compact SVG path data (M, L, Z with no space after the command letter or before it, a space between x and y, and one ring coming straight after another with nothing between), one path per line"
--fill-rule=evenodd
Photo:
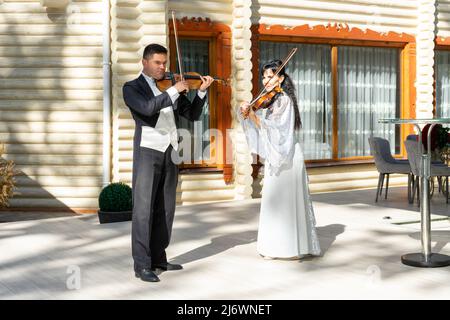
M370 156L368 138L389 140L400 152L395 125L378 123L400 116L399 51L391 48L338 48L339 158Z

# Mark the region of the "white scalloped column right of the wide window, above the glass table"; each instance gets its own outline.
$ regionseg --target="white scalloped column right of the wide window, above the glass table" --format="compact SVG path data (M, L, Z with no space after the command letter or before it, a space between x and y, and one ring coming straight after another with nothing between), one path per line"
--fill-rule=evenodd
M434 39L436 1L417 1L416 117L433 118Z

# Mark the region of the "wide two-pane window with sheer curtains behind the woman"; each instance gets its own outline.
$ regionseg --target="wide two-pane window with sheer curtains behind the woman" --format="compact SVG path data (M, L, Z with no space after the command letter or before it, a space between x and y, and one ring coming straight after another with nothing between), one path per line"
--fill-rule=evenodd
M400 116L399 49L335 46L333 61L328 44L260 41L259 46L259 70L269 60L283 59L291 48L299 49L286 72L297 89L305 159L368 157L372 135L388 139L391 152L400 153L400 128L378 123Z

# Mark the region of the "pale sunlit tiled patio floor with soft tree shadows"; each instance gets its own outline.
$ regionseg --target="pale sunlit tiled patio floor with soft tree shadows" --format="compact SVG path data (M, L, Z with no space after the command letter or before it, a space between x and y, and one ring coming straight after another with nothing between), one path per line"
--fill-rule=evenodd
M258 199L178 207L168 256L184 270L159 283L134 277L130 222L0 223L0 299L449 299L450 267L400 262L420 252L419 212L406 190L392 188L378 204L374 192L313 195L324 254L303 261L256 253ZM433 197L433 252L450 255L449 211Z

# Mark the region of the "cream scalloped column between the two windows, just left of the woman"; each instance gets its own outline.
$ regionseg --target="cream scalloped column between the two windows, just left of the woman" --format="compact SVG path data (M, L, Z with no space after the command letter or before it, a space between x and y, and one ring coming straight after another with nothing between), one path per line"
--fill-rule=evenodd
M233 0L232 108L252 99L251 0ZM233 155L235 199L249 199L252 194L252 156L235 112L233 117Z

